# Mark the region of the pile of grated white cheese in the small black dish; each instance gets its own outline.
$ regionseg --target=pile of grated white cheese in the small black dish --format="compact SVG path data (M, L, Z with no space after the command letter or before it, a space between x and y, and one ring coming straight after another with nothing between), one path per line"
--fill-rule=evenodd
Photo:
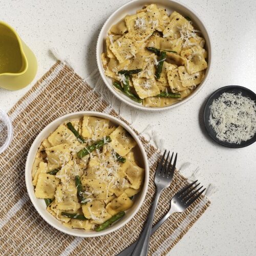
M221 141L240 144L256 132L256 105L242 94L223 93L210 106L209 124Z

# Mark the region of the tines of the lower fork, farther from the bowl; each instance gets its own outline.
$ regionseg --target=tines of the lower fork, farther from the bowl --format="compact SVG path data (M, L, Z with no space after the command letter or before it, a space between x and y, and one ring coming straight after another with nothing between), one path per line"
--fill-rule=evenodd
M201 190L203 186L200 186L199 188L197 188L200 185L200 183L196 184L197 181L198 180L192 182L191 184L187 185L186 187L184 187L182 190L179 191L179 198L187 206L194 203L203 194L204 190L206 189L204 188L203 190Z

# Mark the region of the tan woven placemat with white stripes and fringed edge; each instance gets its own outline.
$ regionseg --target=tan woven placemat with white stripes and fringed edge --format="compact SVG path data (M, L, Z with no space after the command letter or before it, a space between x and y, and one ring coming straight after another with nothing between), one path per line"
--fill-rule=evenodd
M24 172L33 140L56 118L84 110L104 112L122 119L81 77L58 61L8 113L14 138L0 155L1 255L112 256L138 239L154 197L153 177L161 156L157 148L139 133L150 165L150 185L138 214L121 229L103 237L72 237L45 222L29 200ZM176 170L172 185L160 198L155 222L169 209L170 198L186 184L187 180ZM209 204L202 196L186 211L173 214L152 236L149 255L167 254Z

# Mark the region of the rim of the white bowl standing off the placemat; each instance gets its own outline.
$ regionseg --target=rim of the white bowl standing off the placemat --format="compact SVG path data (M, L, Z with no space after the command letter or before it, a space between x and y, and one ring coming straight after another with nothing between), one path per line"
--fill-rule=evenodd
M148 107L148 106L143 106L143 105L137 105L133 102L130 102L129 100L127 100L123 95L121 95L121 93L119 93L117 90L115 90L115 88L112 86L112 84L110 84L110 82L107 80L107 77L106 75L104 74L104 68L102 66L102 62L101 62L101 44L102 44L102 39L101 38L104 38L104 34L105 34L105 30L106 30L106 25L109 23L109 20L112 19L114 16L116 16L119 11L125 9L126 7L128 7L129 5L133 4L133 3L140 3L140 2L145 2L144 0L132 0L122 6L120 6L116 11L114 11L108 19L105 20L104 22L104 25L102 26L101 30L100 30L100 33L99 33L99 36L98 36L98 39L97 39L97 45L96 45L96 59L97 59L97 66L98 66L98 70L99 70L99 73L100 73L100 76L102 78L102 80L104 81L104 83L106 84L106 86L109 88L109 90L121 101L123 101L124 103L126 103L127 105L129 106L132 106L133 108L136 108L136 109L139 109L139 110L143 110L143 111L151 111L151 112L154 112L154 111L165 111L165 110L169 110L169 109L173 109L173 108L176 108L177 106L179 105L182 105L184 104L185 102L187 102L188 100L190 100L191 98L195 97L198 92L203 88L204 84L207 82L208 78L209 78L209 75L210 75L210 71L211 71L211 66L212 66L212 40L211 40L211 37L210 37L210 33L209 33L209 30L207 29L205 23L203 22L203 20L201 18L199 18L199 15L194 11L192 10L190 7L188 7L187 5L183 4L183 3L180 3L176 0L166 0L166 2L169 2L169 3L175 3L175 4L178 4L182 7L184 7L185 9L187 9L189 12L191 12L193 15L195 15L201 22L202 24L202 27L204 28L207 36L208 36L208 39L209 39L209 45L207 45L208 47L208 61L207 61L207 64L208 64L208 67L207 67L207 73L204 77L204 80L203 82L200 84L200 86L193 92L191 93L188 97L186 97L185 99L173 104L173 105L169 105L169 106L163 106L163 107ZM156 4L157 4L157 1L155 1Z

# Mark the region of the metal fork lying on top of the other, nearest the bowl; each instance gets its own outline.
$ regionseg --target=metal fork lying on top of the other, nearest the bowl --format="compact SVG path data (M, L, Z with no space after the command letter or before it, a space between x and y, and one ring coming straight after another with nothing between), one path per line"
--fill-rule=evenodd
M166 159L164 159L165 154L166 154L166 150L164 151L163 157L161 158L156 169L156 174L155 174L156 196L154 199L154 203L151 208L150 215L148 216L146 225L132 253L133 256L147 255L148 244L150 243L152 223L154 220L159 197L162 194L163 189L170 185L174 176L174 170L175 170L175 165L177 161L177 154L175 156L173 165L172 165L172 160L173 160L174 153L170 157L169 161L168 161L168 158L169 158L170 152L168 152Z

